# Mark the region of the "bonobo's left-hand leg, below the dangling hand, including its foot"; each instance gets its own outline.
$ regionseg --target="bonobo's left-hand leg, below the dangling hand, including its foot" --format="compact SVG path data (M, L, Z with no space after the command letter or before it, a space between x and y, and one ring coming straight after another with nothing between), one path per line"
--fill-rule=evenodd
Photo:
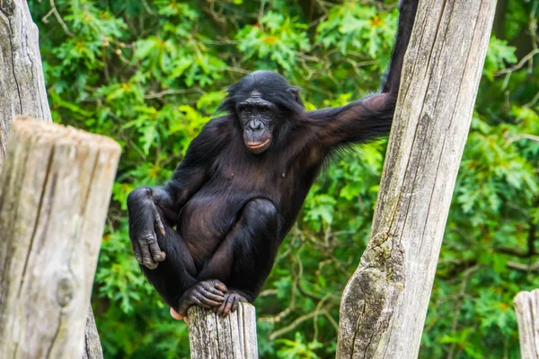
M193 258L181 236L166 224L164 232L164 236L157 234L157 244L166 258L155 269L140 266L148 281L164 302L183 317L190 305L218 307L225 299L226 286L216 280L199 282Z

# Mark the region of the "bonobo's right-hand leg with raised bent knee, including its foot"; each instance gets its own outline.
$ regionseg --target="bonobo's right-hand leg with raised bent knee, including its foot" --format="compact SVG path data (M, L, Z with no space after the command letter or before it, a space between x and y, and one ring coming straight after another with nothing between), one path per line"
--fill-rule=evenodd
M239 221L199 274L199 279L223 278L225 300L216 312L227 315L239 302L254 302L270 275L280 239L278 212L267 199L252 199Z

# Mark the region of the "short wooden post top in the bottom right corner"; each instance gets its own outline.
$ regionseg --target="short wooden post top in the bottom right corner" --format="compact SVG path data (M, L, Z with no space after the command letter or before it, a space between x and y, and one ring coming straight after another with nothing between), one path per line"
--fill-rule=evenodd
M522 359L539 358L539 289L520 292L513 301Z

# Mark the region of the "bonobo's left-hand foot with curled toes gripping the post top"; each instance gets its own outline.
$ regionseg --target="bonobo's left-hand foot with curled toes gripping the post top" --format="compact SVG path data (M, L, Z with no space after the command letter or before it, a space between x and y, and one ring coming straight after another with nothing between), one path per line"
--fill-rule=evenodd
M225 301L227 292L226 285L216 279L199 282L181 295L176 312L180 317L187 317L187 310L191 305L206 309L219 307Z

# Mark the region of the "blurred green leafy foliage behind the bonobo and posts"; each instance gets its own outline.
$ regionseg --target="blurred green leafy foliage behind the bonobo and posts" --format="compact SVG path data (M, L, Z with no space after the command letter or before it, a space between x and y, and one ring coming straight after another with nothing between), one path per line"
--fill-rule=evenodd
M517 358L512 300L539 287L539 0L499 0L421 358ZM397 1L30 0L54 121L123 147L93 286L107 358L189 357L187 326L131 253L126 198L167 180L253 70L307 109L375 92ZM366 247L386 140L331 162L256 302L262 358L332 358L340 293Z

